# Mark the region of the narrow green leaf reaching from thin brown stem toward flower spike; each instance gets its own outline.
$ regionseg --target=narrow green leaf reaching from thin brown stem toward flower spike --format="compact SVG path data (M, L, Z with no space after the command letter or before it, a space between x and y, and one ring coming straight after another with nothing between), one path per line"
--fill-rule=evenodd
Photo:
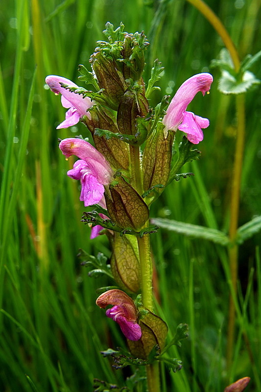
M211 229L210 227L199 226L196 224L185 223L180 221L172 221L163 218L154 218L151 223L158 225L164 229L175 231L189 237L201 238L212 241L215 244L227 246L230 244L228 237L220 230Z

